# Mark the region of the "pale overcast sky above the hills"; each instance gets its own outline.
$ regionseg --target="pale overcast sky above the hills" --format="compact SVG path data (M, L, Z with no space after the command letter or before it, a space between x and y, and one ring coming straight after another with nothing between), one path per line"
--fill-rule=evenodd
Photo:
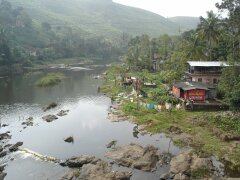
M203 16L206 11L217 12L216 2L221 0L113 0L128 6L142 8L164 17L173 16Z

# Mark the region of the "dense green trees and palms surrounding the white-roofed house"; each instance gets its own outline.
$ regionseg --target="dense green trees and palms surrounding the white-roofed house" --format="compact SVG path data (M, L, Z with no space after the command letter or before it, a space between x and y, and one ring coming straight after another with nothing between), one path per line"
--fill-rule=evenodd
M200 17L196 30L186 31L181 36L162 35L150 38L137 36L130 40L125 60L133 70L155 70L171 82L179 80L186 70L186 61L227 61L219 83L219 92L234 109L240 108L240 4L238 0L223 0L216 4L219 10L228 11L221 18L212 11Z

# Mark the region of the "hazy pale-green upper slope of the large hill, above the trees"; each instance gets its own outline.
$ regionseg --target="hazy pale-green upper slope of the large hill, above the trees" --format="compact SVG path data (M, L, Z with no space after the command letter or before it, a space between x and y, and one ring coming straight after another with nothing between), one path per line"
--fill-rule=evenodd
M115 36L147 33L177 34L179 25L154 13L120 5L111 0L9 0L22 6L35 22L81 28L89 35ZM181 26L186 30L184 26Z

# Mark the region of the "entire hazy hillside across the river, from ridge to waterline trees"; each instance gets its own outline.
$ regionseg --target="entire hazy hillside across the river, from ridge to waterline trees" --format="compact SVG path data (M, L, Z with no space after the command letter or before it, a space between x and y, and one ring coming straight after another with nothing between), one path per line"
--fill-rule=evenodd
M0 66L59 58L106 62L126 50L131 35L176 34L179 26L110 0L0 0Z

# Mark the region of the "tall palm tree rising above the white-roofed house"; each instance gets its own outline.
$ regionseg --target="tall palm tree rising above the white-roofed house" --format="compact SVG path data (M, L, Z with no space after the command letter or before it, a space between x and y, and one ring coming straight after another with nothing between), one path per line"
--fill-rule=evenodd
M200 17L200 24L197 28L197 36L205 40L208 48L209 60L212 60L212 49L221 36L221 22L213 11L207 12L207 18Z

